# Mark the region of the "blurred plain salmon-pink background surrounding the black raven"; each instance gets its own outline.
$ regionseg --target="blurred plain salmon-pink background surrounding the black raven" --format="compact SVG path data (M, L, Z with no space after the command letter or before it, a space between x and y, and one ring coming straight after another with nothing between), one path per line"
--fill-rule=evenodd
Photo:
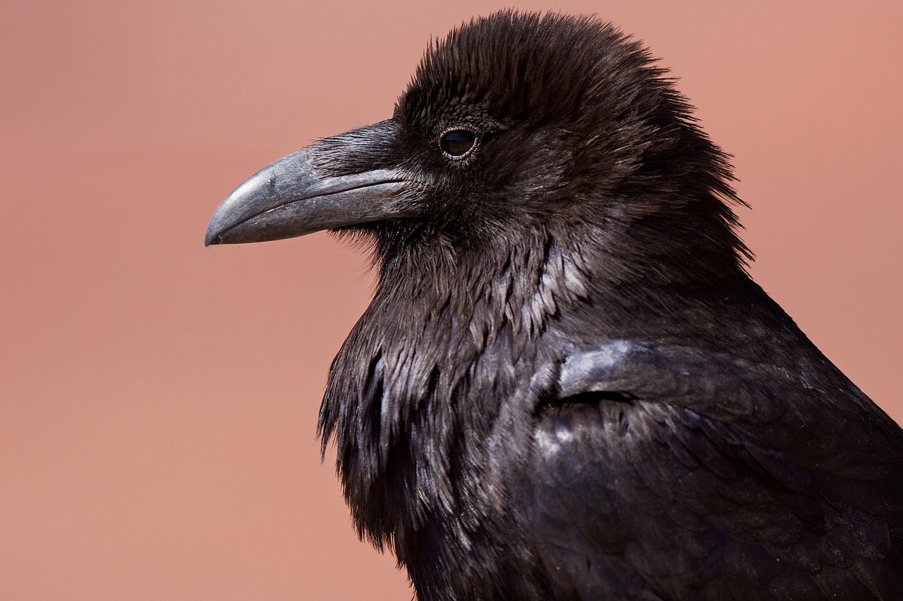
M0 597L410 599L315 422L368 303L317 234L204 248L219 200L391 115L509 2L0 3ZM735 156L756 280L903 421L903 4L627 2Z

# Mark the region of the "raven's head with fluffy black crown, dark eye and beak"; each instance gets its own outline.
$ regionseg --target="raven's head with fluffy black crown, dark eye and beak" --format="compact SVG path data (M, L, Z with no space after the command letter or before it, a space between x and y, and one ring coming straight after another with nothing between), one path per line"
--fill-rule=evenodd
M392 118L321 140L225 199L205 244L328 229L402 249L549 240L610 279L742 268L726 157L649 53L591 17L501 12L426 51Z

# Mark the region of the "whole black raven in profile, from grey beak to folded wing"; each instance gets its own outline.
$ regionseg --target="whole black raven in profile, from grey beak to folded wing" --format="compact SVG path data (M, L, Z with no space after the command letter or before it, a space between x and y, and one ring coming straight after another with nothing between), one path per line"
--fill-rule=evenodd
M319 433L427 599L903 599L903 432L745 270L727 157L649 53L502 12L206 244L372 243Z

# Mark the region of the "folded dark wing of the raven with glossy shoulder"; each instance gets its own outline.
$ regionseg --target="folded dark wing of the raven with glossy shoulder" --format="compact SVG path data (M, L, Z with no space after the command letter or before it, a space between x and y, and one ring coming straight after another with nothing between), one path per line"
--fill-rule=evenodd
M557 391L527 519L573 595L903 598L896 424L838 419L798 374L629 341L568 356Z

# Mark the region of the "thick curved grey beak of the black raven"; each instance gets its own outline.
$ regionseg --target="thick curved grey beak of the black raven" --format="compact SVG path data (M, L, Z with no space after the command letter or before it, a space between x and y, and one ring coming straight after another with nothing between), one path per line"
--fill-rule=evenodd
M394 132L391 121L369 125L326 138L257 171L219 204L204 245L279 240L415 217L414 204L402 194L406 174L378 167L385 162Z

